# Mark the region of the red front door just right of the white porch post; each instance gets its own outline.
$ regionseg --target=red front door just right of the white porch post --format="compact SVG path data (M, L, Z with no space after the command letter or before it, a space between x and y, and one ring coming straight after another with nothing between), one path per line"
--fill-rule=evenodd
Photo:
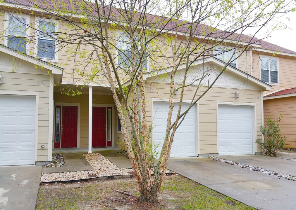
M92 146L106 146L106 107L93 107Z

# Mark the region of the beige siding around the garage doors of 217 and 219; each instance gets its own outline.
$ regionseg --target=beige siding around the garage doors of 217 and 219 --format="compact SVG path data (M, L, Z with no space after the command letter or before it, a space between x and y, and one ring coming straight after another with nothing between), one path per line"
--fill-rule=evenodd
M149 84L146 84L147 86ZM155 92L147 93L147 112L148 120L151 123L151 101L152 98L162 98L169 99L169 84L154 83ZM240 97L235 98L234 92L238 90L240 92ZM191 100L193 95L192 90L187 90L184 95L184 100ZM202 92L198 92L200 95ZM257 128L257 138L261 139L260 126L261 126L261 99L256 99L255 95L261 95L260 90L246 90L246 89L236 89L236 88L218 88L213 87L209 92L205 94L204 97L199 101L199 129L200 133L200 153L199 154L210 154L218 153L217 151L217 101L218 102L230 102L230 103L252 103L256 104L256 128ZM174 95L174 99L179 99L180 94ZM234 104L235 105L235 104ZM255 139L254 139L255 142ZM254 143L255 144L255 143ZM256 152L260 152L260 148L257 147Z

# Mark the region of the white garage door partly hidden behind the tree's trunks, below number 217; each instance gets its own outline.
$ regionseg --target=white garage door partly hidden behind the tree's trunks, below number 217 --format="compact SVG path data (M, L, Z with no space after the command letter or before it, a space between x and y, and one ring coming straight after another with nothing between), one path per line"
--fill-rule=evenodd
M189 107L183 103L181 110L184 111ZM169 104L167 102L153 103L153 142L158 146L159 154L165 138L165 130L168 119ZM173 120L176 119L178 104L173 109ZM196 156L196 110L192 107L187 113L184 121L177 128L172 144L170 157L192 157Z

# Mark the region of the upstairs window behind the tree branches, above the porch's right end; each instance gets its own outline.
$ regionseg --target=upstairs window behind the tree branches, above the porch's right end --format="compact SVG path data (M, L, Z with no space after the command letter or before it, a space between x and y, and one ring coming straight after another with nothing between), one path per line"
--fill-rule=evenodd
M121 68L130 68L131 67L131 40L130 38L127 37L127 35L123 32L117 32L118 36L118 42L117 42L117 48L118 50L118 60L117 60L117 65ZM138 49L140 49L140 41L136 40ZM139 53L136 52L136 64L139 64L140 61L140 56ZM147 53L144 54L144 57L142 58L142 63L143 63L143 69L147 69Z

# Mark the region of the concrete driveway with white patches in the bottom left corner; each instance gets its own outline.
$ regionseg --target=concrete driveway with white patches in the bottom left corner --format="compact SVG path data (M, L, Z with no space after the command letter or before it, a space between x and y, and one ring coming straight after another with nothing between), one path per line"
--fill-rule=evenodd
M35 210L42 166L0 167L0 210Z

